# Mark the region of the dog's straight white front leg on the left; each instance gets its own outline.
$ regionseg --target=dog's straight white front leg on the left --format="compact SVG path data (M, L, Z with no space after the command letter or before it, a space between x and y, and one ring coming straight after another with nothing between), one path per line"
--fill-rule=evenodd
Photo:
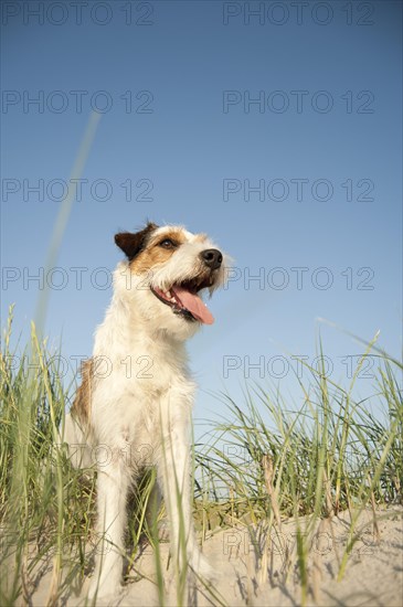
M129 477L124 462L98 465L97 554L88 596L114 597L121 589Z

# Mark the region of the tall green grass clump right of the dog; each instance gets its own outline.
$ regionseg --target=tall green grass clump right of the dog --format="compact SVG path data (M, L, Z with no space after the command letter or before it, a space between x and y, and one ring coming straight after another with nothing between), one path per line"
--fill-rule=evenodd
M403 398L397 379L402 364L375 354L379 371L373 394L354 400L353 388L374 342L368 344L348 388L326 376L325 365L307 366L307 383L299 382L303 403L290 407L278 391L246 385L243 403L222 394L226 414L214 424L210 440L199 450L200 508L209 515L220 504L221 524L265 523L267 542L282 520L297 526L295 563L307 599L308 556L320 521L349 511L349 541L339 560L342 579L364 509L403 503ZM319 344L319 360L325 360ZM375 350L377 352L378 350ZM378 411L375 415L373 409ZM209 487L210 500L203 491ZM211 510L210 510L211 512ZM214 526L213 524L211 525ZM284 552L284 568L290 566ZM267 575L267 571L263 578Z

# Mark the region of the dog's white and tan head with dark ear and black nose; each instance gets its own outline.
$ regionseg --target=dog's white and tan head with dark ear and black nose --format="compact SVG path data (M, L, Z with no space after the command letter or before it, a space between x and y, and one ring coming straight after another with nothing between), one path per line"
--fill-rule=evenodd
M187 339L214 322L201 297L223 284L225 258L205 234L148 223L140 232L116 234L115 242L127 257L118 268L125 298L156 330Z

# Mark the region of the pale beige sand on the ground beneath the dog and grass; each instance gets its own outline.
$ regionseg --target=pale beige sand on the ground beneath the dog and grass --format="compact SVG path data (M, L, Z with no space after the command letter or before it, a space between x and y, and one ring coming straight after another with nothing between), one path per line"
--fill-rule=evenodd
M349 535L350 515L341 513L331 523L316 525L307 560L306 605L319 606L403 606L403 508L391 507L373 513L365 510L358 519L356 542L341 581L339 565ZM304 522L304 521L303 521ZM271 541L268 541L271 540ZM161 544L162 564L167 567L169 545ZM236 525L211 533L203 543L203 553L216 571L215 597L202 584L190 579L184 604L188 605L255 605L296 606L304 604L301 577L296 564L296 523L282 522L267 534L267 525ZM25 579L30 604L47 604L52 584L52 565L47 561L36 572L36 579ZM63 575L63 573L62 573ZM163 572L165 604L178 605L177 584L172 566ZM33 583L33 586L32 586ZM60 605L85 605L89 579L77 577ZM32 592L33 590L33 592ZM32 593L32 594L31 594ZM26 604L22 603L19 604ZM155 556L146 546L134 564L124 594L109 603L128 606L160 605L156 585ZM97 601L97 605L106 605Z

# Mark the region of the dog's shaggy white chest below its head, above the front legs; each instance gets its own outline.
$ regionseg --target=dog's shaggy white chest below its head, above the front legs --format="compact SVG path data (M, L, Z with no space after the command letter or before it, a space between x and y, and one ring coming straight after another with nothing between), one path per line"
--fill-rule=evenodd
M116 313L108 313L96 334L94 358L106 362L96 381L93 425L99 437L148 444L168 413L171 420L189 416L194 383L184 348L117 327Z

